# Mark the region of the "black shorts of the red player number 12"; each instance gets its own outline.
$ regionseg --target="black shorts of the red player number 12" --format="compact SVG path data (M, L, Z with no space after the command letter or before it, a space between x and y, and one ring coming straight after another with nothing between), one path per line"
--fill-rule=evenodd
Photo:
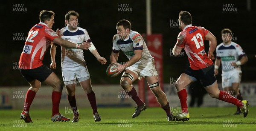
M39 80L43 82L52 73L52 70L47 68L45 65L41 65L34 69L20 69L20 73L25 77L28 82L32 80Z

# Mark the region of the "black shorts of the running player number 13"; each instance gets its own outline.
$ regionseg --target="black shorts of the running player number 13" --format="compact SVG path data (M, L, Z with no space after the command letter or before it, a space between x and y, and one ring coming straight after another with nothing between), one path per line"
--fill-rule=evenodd
M194 77L204 87L212 85L216 81L216 77L214 75L214 65L210 65L209 67L202 68L200 70L192 70L192 68L189 66L189 68L187 68L183 73Z

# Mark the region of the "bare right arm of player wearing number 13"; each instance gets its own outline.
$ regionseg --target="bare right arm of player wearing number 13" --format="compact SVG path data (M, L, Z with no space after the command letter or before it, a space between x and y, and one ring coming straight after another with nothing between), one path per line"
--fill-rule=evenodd
M216 37L209 31L205 36L205 40L209 40L209 44L210 44L208 58L214 60L215 58L214 58L213 52L217 46Z

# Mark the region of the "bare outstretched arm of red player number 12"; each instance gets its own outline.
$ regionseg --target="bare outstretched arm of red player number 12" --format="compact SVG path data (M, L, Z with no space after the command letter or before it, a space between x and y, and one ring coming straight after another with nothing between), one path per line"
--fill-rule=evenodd
M52 42L54 42L55 44L67 47L67 48L80 48L83 50L88 50L88 48L91 46L91 44L87 41L79 45L79 44L72 43L68 40L63 40L63 39L61 39L61 37L54 38L52 40Z

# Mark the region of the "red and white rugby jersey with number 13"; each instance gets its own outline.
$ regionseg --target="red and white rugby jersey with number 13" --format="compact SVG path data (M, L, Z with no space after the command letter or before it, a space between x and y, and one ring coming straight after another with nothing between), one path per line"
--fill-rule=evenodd
M204 27L188 25L177 37L176 45L185 49L193 70L206 68L213 64L204 51L204 39L208 32Z

